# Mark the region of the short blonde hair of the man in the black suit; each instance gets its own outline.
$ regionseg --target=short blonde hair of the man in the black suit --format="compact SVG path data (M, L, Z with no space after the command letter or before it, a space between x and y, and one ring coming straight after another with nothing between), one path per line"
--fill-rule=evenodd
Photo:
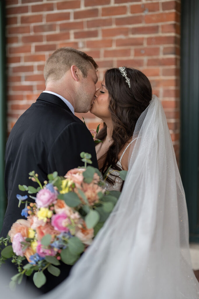
M95 60L86 53L74 48L59 48L46 61L44 66L45 82L61 79L72 65L76 65L83 77L87 77L88 69L92 67L91 64L95 69L98 68Z

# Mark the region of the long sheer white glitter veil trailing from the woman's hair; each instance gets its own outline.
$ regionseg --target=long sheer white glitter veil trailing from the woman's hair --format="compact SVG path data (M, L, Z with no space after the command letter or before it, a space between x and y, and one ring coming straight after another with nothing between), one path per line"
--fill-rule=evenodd
M199 298L185 194L160 100L137 121L115 209L48 299Z

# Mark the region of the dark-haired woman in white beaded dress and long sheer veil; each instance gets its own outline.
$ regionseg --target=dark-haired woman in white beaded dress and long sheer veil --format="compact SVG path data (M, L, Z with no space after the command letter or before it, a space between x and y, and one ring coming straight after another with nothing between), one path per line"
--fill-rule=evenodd
M96 152L102 175L111 165L106 188L122 193L69 278L42 298L199 298L185 194L149 80L132 68L107 70L90 111L104 121Z

